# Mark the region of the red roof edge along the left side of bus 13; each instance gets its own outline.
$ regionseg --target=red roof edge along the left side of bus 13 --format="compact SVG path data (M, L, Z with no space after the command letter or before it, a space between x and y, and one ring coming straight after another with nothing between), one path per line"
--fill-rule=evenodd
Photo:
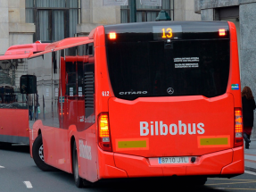
M52 51L58 51L61 49L69 48L72 46L80 46L83 44L91 43L94 39L88 38L88 37L78 37L78 38L64 38L60 41L56 41L48 46L45 47L44 52L40 52L37 54L30 55L29 57L35 57L41 54L47 54Z

